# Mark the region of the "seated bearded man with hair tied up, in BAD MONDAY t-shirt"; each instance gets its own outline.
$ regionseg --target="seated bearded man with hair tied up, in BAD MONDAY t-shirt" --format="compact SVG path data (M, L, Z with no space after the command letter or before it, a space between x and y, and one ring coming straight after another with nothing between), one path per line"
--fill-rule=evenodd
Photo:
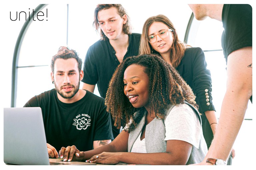
M58 158L57 150L63 145L76 144L79 149L91 150L113 139L104 99L79 89L81 67L82 60L75 50L60 47L51 61L55 88L32 97L24 105L42 109L49 157Z

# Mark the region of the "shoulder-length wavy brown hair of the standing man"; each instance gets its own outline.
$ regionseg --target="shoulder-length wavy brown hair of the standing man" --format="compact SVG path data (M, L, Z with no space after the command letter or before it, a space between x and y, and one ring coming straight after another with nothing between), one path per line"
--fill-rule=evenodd
M123 6L121 4L98 4L94 10L93 27L96 29L96 32L98 32L100 34L101 40L105 40L106 35L100 29L99 20L98 20L98 12L101 10L104 10L104 9L109 9L111 7L115 7L117 9L120 17L123 17L124 15L127 16L127 22L126 22L126 24L123 25L123 32L124 32L124 34L132 34L132 26L131 26L130 17L128 16L126 10L123 8Z

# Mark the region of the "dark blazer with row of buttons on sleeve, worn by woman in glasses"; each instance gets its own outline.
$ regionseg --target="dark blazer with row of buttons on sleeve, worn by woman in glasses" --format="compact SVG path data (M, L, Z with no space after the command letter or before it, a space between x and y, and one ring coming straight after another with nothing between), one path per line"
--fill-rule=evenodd
M214 110L212 103L212 79L210 70L207 68L204 52L199 47L187 48L180 65L176 68L181 77L192 88L196 103L199 106L199 112L202 114L203 134L209 148L213 133L208 120L204 114L205 111Z

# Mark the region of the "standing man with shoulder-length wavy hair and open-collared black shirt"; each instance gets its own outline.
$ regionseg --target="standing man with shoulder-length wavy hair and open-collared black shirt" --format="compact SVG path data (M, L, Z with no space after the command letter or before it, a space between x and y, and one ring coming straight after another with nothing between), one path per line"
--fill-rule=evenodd
M100 34L100 40L86 53L83 89L93 93L97 84L100 96L105 98L116 67L128 56L138 55L140 34L132 33L130 17L121 4L98 4L93 26ZM115 138L120 129L111 121Z

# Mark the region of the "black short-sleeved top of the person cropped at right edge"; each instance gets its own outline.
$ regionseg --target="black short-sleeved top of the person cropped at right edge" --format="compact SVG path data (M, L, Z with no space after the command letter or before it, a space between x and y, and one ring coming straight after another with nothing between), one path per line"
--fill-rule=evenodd
M224 4L222 23L221 45L227 61L231 52L252 46L252 7L248 4Z

